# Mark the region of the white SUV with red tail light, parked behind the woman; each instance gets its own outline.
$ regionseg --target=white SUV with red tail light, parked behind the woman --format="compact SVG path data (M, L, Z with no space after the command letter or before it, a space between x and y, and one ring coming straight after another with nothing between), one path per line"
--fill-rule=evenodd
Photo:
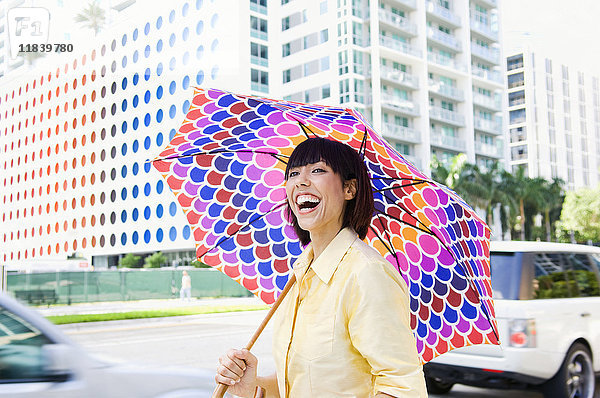
M492 242L491 271L501 346L465 347L428 363L429 392L459 383L592 398L600 372L600 248Z

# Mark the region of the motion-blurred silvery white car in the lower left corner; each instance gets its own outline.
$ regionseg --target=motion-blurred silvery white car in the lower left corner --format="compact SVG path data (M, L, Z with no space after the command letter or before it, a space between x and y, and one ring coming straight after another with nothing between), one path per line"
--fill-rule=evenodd
M212 380L200 370L139 370L96 359L37 312L0 294L0 397L205 397Z

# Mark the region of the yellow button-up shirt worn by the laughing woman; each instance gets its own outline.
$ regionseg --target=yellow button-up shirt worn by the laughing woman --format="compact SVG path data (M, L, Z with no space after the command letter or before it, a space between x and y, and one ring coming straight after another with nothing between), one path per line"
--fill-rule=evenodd
M427 397L398 270L346 228L294 273L274 316L281 397Z

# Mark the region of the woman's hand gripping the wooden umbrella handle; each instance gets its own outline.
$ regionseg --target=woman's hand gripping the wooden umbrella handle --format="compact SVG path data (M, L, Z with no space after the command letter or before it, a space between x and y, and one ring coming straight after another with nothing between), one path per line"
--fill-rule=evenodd
M231 349L219 358L215 381L229 386L228 391L239 397L254 396L257 386L258 359L246 349Z

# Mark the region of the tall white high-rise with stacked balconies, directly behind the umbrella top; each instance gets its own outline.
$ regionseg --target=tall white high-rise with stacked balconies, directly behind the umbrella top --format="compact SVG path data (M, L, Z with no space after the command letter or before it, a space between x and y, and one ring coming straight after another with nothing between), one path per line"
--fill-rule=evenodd
M272 95L359 109L421 168L504 161L497 0L273 3Z

